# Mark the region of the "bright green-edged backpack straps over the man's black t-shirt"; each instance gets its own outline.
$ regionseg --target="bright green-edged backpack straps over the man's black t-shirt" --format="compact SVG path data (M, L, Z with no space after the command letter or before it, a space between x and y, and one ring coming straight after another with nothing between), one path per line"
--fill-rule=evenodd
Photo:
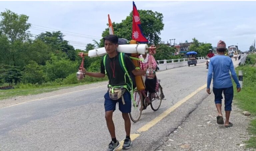
M125 56L125 53L118 53L119 63L120 63L120 66L121 66L121 68L124 72L124 80L125 80L124 87L127 88L129 91L131 91L131 90L134 90L135 87L136 87L135 76L132 73L130 73L130 74L128 73L128 70L126 68L127 66L126 66L125 61L124 61L124 56ZM106 57L107 57L107 55L105 55L103 57L103 64L104 64L104 67L105 67L105 74L107 75Z

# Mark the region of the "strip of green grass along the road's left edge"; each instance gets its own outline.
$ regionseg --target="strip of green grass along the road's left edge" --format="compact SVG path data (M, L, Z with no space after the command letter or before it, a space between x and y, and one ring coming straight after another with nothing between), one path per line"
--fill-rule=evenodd
M106 81L106 78L103 78L102 80L99 80L99 81ZM90 83L95 83L95 82L99 82L99 81L82 82L82 83L65 84L65 85L55 85L55 86L40 86L40 87L30 86L28 88L15 88L15 89L9 89L9 90L0 90L0 100L15 97L15 96L25 96L25 95L33 95L33 94L39 94L39 93L44 93L44 92L50 92L50 91L55 91L55 90L59 90L62 88L90 84Z

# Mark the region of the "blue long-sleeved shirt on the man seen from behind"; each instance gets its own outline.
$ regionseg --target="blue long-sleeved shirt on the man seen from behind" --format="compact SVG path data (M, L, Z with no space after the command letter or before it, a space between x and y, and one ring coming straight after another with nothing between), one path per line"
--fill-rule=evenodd
M208 77L207 77L207 88L210 88L211 81L213 78L214 88L228 88L232 86L231 76L229 71L236 82L236 87L240 88L239 81L236 76L233 62L229 56L217 55L210 59Z

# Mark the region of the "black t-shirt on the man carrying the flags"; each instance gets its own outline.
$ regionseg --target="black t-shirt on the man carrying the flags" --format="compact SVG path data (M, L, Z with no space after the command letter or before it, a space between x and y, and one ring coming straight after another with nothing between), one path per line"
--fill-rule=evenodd
M124 61L126 65L126 69L129 73L129 75L132 73L133 70L135 70L135 66L132 62L132 60L129 58L128 55L124 55ZM118 85L124 85L124 71L121 68L120 62L119 62L119 53L114 58L109 58L109 56L106 56L106 71L109 79L109 84L112 86L118 86ZM114 74L113 74L114 72ZM101 61L101 67L100 67L100 73L105 74L105 67L103 63L103 59ZM129 79L126 77L126 82Z

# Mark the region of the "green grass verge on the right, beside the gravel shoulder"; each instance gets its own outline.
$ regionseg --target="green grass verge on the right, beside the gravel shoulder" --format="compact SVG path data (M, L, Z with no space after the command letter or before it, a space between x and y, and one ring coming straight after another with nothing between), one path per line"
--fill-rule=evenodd
M239 70L243 71L243 87L241 92L234 93L235 103L239 108L251 113L251 116L256 115L256 55L249 55L250 61L246 61L245 66L236 68L238 74ZM236 87L234 86L234 91ZM248 128L252 137L248 141L246 147L256 149L256 119L251 120Z

